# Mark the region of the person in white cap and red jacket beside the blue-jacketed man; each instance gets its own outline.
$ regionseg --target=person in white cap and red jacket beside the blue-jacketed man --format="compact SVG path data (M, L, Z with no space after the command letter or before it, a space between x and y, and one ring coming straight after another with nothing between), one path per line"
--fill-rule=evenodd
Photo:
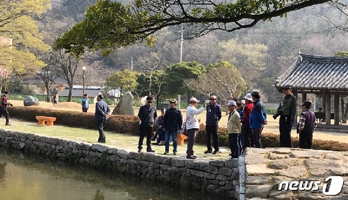
M244 116L242 119L243 124L243 152L246 147L254 147L254 142L252 140L251 129L249 125L250 113L254 107L252 97L250 93L247 93L245 96L245 107L244 107Z

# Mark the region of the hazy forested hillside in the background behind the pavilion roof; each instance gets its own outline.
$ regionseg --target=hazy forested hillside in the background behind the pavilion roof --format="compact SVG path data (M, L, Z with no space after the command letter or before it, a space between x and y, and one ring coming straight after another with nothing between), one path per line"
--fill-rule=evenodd
M66 23L69 27L83 19L83 14L94 0L52 0L52 10L38 19L39 30L47 32L48 24ZM128 1L120 1L127 3ZM272 87L275 78L289 68L297 59L298 51L305 54L333 56L335 52L347 51L347 40L344 33L330 32L330 23L323 20L320 13L327 12L327 5L319 5L288 13L287 17L276 17L272 21L258 22L256 26L242 31L226 33L221 31L193 40L184 40L182 61L196 61L207 66L220 61L228 61L241 72L248 89L260 89L265 92L268 102L279 102L281 94ZM330 11L330 10L329 10ZM333 17L342 17L339 14ZM181 27L169 27L156 33L157 41L153 47L144 43L117 48L108 56L90 56L81 62L94 63L100 67L110 67L112 72L130 69L144 71L144 62L151 54L156 54L158 63L156 70L165 69L180 60ZM184 38L189 35L183 30ZM97 64L96 64L97 61ZM100 62L102 61L102 62ZM89 85L93 85L99 77L92 72L88 76ZM81 80L80 70L76 71L75 82ZM106 76L106 74L105 74ZM105 77L106 79L106 77Z

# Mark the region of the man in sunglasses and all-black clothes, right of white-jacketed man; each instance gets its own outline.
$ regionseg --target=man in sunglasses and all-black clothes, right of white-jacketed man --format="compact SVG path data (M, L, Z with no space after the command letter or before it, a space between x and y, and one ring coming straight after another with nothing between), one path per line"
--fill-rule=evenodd
M221 106L216 103L216 96L212 95L210 97L210 102L207 105L207 117L205 131L207 134L207 148L208 150L204 154L219 154L219 138L217 137L217 127L219 126L219 121L221 119ZM213 138L214 152L211 148L211 137Z

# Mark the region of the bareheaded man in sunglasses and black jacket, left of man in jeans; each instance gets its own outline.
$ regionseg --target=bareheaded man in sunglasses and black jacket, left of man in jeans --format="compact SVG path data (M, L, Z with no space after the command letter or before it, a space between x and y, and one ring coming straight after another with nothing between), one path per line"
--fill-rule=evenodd
M146 104L144 106L141 106L139 109L138 117L141 121L141 127L140 127L140 138L139 138L139 146L138 146L138 153L141 152L141 149L143 148L143 141L144 137L146 136L146 152L155 152L151 148L151 137L153 135L154 130L154 123L157 118L157 112L156 108L152 105L153 104L153 97L148 96L146 98Z

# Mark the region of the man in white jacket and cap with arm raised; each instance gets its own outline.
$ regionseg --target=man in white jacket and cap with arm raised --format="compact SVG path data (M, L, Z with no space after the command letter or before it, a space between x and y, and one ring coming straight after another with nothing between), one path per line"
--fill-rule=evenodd
M196 156L193 155L193 144L196 139L198 130L200 128L200 120L197 119L197 115L204 111L206 102L200 109L195 108L198 104L197 98L190 98L190 104L186 109L186 133L187 133L187 159L195 159Z

